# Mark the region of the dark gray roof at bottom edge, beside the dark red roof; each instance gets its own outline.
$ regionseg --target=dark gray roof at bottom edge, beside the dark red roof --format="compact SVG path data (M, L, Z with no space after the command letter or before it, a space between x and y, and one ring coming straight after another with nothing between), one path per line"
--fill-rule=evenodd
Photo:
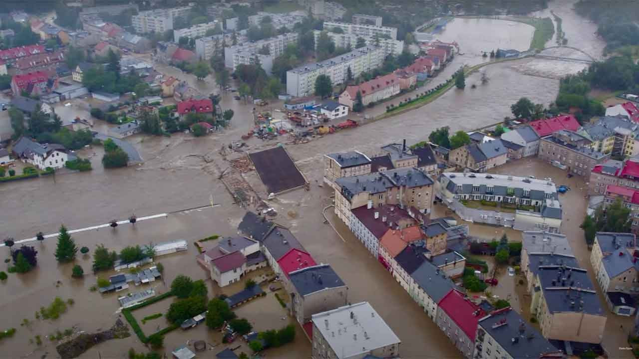
M479 321L479 326L489 333L512 358L541 358L557 351L535 328L528 325L517 312L507 308L492 312ZM514 339L514 340L513 340Z

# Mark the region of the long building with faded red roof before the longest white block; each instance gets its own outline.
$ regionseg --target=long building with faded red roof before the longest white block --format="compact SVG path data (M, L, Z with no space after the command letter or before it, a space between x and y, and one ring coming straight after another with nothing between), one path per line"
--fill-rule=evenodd
M399 94L399 91L401 91L399 78L395 73L389 73L357 86L346 87L346 90L339 95L339 103L352 109L358 93L362 96L362 105L366 106L395 96Z

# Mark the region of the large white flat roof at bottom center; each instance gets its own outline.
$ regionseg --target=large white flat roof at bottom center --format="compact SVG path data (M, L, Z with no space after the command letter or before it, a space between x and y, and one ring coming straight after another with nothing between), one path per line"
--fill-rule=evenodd
M368 302L314 314L311 320L337 358L351 358L401 342Z

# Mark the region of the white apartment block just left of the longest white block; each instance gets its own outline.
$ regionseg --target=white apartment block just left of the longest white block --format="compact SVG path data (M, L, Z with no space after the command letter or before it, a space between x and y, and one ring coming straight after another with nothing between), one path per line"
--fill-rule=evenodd
M297 33L286 33L272 38L265 38L255 42L238 43L238 45L224 48L224 66L233 69L239 64L247 64L245 62L237 62L238 58L243 56L250 56L251 54L257 54L263 47L268 47L268 56L273 58L281 55L286 47L291 43L296 43L298 38ZM197 50L197 43L196 43ZM240 57L236 56L238 53L242 53ZM254 56L252 56L254 57ZM272 62L272 59L270 60ZM266 70L266 68L264 68ZM266 72L270 72L266 71Z

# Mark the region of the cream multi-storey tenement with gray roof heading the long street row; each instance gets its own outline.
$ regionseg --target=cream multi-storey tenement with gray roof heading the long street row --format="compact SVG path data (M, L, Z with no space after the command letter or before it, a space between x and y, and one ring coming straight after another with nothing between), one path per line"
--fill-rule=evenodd
M381 207L395 204L414 207L428 214L433 204L433 180L426 172L415 167L338 178L335 189L335 213L347 226L351 210L360 206Z

